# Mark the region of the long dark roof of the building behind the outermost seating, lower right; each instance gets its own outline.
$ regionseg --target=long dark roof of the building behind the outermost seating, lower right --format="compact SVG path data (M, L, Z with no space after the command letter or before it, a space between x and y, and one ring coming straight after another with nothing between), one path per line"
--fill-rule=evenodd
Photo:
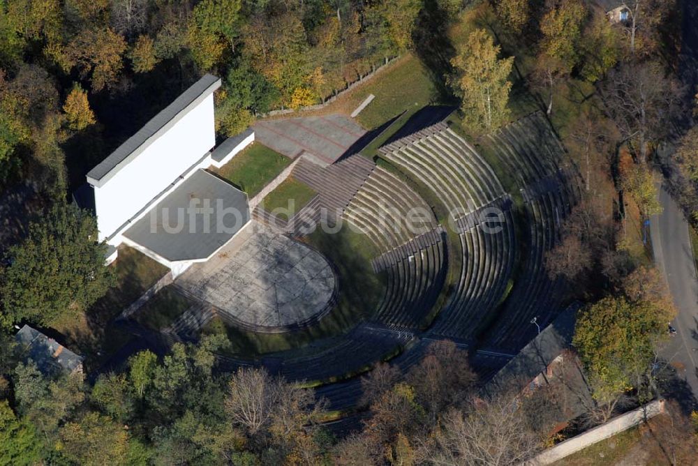
M484 387L489 394L521 391L549 363L572 345L574 322L579 304L575 303L560 315L528 345L514 356Z

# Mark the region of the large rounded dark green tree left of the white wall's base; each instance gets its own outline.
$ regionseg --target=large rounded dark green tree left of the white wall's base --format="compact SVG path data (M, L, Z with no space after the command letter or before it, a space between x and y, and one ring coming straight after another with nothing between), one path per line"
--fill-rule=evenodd
M14 322L50 325L91 306L113 280L96 237L94 217L73 204L58 204L32 223L0 275L3 313Z

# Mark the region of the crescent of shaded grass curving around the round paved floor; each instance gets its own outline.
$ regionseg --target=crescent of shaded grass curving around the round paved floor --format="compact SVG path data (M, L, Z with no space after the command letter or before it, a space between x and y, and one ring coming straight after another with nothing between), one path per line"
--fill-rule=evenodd
M225 327L232 344L230 351L239 356L254 357L292 349L302 351L304 345L346 333L370 317L385 290L385 276L376 275L371 269L370 259L376 255L373 243L346 225L334 234L318 229L305 240L332 261L339 274L339 302L320 322L297 331L255 333L223 326L222 322L214 320L204 331L215 333Z

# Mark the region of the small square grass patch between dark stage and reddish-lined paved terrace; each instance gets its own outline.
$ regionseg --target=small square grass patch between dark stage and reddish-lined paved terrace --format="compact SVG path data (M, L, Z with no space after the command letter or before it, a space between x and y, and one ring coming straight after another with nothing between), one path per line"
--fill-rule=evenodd
M253 197L290 163L290 158L253 142L216 173Z

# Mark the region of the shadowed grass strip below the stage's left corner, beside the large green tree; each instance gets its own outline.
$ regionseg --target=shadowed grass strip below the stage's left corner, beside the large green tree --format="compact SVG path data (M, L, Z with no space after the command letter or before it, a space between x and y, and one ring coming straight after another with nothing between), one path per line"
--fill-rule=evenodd
M71 350L87 356L88 368L128 341L130 336L110 326L112 320L168 272L165 266L128 247L119 248L119 257L110 267L116 275L116 285L79 319L71 318L53 325L66 336Z

